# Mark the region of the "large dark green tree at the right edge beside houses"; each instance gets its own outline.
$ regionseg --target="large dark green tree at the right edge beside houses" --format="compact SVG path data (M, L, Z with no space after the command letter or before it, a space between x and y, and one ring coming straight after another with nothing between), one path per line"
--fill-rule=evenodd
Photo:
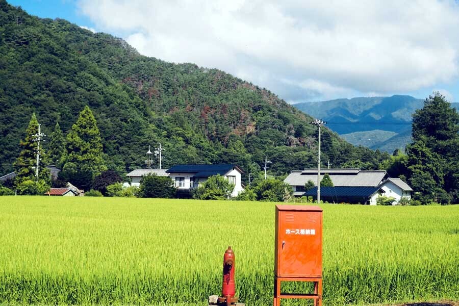
M438 92L413 114L413 143L406 147L406 164L415 197L424 204L459 200L458 133L459 114Z

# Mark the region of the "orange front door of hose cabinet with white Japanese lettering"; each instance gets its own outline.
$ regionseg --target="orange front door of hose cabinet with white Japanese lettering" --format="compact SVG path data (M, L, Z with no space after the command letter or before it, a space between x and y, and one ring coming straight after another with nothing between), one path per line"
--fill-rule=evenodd
M322 275L322 214L279 212L278 276L320 277Z

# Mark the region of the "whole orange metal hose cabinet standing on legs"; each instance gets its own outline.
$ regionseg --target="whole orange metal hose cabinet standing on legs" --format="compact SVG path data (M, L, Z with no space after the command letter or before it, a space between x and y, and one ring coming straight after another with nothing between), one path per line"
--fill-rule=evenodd
M276 205L274 306L281 298L322 302L322 209ZM314 282L314 294L281 293L281 281Z

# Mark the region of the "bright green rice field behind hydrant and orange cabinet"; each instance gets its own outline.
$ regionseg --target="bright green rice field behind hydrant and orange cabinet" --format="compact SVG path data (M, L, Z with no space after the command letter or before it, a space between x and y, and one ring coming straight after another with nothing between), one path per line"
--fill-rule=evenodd
M271 305L274 206L0 197L0 304L207 305L231 245L237 294ZM324 305L459 300L459 206L322 207Z

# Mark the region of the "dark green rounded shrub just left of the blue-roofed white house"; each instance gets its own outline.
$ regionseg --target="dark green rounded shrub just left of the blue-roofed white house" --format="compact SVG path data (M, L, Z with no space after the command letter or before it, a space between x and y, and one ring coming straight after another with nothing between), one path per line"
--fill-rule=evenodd
M175 196L174 182L169 176L158 176L149 173L140 180L139 194L141 197L172 198Z

